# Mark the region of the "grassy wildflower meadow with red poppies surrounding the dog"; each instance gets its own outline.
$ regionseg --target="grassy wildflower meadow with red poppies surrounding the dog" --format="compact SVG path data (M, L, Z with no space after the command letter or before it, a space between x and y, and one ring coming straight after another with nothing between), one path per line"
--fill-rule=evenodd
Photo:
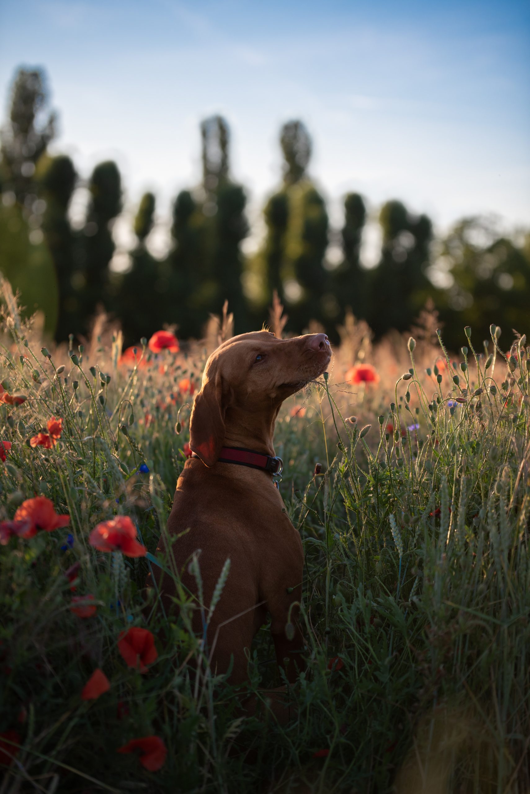
M284 404L307 669L281 726L242 715L190 631L214 605L156 555L229 324L123 350L100 322L55 348L4 292L0 794L530 792L524 336L373 346L350 317L329 372ZM144 586L154 566L177 584L171 620ZM267 626L248 669L259 698L282 684Z

